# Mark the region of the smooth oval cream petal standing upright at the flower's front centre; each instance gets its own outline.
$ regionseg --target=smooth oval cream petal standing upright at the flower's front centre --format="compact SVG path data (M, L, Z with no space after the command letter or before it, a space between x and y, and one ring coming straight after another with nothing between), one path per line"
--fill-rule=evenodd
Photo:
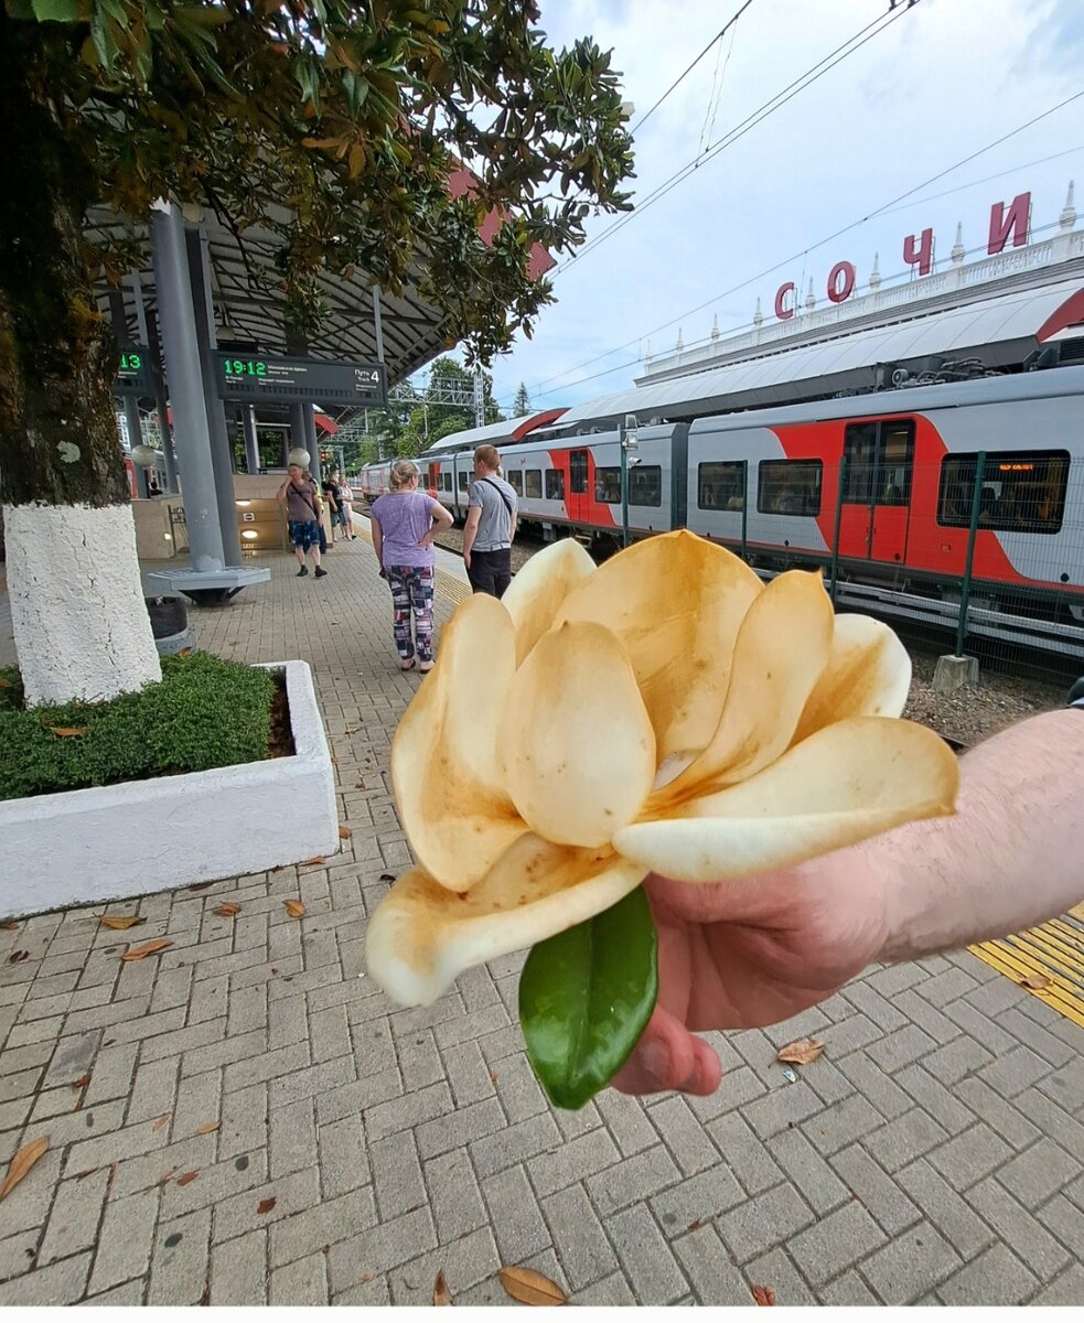
M617 636L601 624L544 634L508 689L504 785L531 831L605 845L655 779L655 734Z

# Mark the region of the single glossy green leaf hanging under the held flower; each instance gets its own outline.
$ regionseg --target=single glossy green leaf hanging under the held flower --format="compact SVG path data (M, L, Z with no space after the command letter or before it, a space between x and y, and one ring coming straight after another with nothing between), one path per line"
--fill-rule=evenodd
M655 925L642 886L527 957L519 1019L549 1101L574 1110L605 1088L651 1019L659 991Z

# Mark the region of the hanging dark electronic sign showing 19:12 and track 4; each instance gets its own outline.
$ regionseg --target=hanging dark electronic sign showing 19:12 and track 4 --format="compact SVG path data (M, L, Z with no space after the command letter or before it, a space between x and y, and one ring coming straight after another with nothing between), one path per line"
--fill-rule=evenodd
M388 404L388 384L380 363L220 353L216 356L216 377L222 400L369 405L377 409Z

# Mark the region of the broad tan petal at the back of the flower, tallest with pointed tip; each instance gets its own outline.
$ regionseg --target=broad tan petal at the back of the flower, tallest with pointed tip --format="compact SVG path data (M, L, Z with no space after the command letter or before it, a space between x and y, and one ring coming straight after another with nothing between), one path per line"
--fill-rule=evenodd
M684 531L645 538L566 598L564 620L613 630L633 663L658 759L700 750L719 725L739 628L761 594L731 552Z

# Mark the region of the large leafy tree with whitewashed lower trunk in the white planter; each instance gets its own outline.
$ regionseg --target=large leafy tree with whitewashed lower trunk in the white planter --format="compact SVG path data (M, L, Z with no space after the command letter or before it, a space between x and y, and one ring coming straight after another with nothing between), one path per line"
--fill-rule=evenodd
M93 247L89 210L142 225L173 198L258 229L299 332L322 274L409 274L486 361L552 302L533 245L629 205L609 54L537 21L533 0L0 0L0 503L30 703L160 673L94 288L146 253Z

